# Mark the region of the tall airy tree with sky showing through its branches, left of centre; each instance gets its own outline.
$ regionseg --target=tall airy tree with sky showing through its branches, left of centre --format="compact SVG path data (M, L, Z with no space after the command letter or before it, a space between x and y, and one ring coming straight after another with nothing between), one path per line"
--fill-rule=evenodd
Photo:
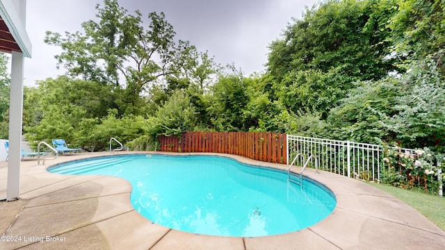
M48 31L45 42L62 49L56 56L58 66L70 77L108 86L113 97L104 110L152 114L171 94L157 90L175 91L191 84L204 89L218 70L207 52L198 52L189 42L175 43L176 33L163 12L150 12L145 25L138 10L130 15L117 0L104 0L96 9L98 21L83 22L83 32ZM147 93L152 91L161 97L151 94L150 103Z

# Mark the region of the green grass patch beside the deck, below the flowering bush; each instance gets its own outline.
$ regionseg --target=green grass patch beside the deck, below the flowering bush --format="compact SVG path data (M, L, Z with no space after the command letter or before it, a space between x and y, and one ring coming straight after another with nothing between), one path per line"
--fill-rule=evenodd
M388 185L369 183L375 188L385 191L418 210L431 222L445 231L445 197L426 194L414 190L405 190Z

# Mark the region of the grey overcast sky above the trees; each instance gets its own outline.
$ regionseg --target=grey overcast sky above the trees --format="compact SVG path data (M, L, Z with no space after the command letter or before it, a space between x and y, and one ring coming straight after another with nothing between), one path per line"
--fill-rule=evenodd
M103 0L27 0L26 31L33 45L32 58L26 58L24 84L56 78L58 47L44 44L46 31L64 34L83 31L81 24L96 20ZM216 63L234 63L245 76L264 70L268 44L280 37L292 17L301 18L305 6L316 0L120 0L130 14L140 10L144 25L149 12L164 12L177 33L199 51L208 51Z

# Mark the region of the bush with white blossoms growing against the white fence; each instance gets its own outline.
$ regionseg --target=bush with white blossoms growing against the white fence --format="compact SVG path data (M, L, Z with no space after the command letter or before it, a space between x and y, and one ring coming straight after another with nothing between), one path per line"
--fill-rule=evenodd
M412 151L388 144L384 144L384 155L382 183L437 193L440 184L437 179L439 174L437 162L444 161L443 156L433 153L428 148Z

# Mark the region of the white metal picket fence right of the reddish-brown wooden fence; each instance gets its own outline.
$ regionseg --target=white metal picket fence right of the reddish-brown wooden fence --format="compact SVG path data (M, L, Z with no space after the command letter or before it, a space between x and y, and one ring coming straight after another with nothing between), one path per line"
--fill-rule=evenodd
M319 169L368 181L380 180L384 157L381 145L287 135L287 147L287 163L302 153L306 158L316 156ZM402 150L414 153L414 149ZM296 165L302 165L301 160L298 158Z

